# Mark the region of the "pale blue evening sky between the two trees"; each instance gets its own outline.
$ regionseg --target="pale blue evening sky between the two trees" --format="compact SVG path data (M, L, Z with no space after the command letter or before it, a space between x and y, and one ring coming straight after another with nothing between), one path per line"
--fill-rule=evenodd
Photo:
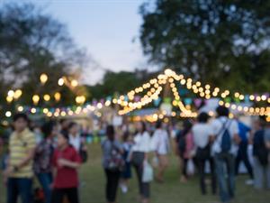
M1 0L0 0L1 1ZM2 0L11 1L11 0ZM101 67L113 71L146 68L139 43L142 19L139 5L143 0L20 0L32 2L47 14L67 24L79 47L86 49ZM102 69L84 67L83 80L95 84L103 77Z

